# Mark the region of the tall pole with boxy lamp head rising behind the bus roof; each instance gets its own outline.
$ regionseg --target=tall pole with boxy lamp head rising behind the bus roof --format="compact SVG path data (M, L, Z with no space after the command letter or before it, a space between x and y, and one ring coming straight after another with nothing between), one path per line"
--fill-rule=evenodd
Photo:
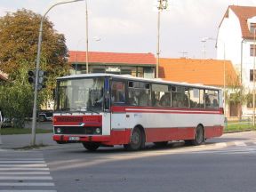
M158 16L157 16L157 48L156 48L156 78L159 76L159 57L160 57L160 16L161 12L165 9L167 9L167 0L157 0L158 5Z

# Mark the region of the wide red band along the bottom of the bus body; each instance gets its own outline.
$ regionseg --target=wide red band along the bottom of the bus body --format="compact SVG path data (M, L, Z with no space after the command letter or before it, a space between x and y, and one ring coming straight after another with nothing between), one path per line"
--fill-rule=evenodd
M182 128L146 128L146 142L160 142L171 140L194 140L195 127ZM220 137L223 133L223 126L204 127L205 138ZM132 129L112 130L109 136L105 135L53 135L53 140L69 141L69 137L79 137L80 142L93 141L104 145L128 144L131 139Z

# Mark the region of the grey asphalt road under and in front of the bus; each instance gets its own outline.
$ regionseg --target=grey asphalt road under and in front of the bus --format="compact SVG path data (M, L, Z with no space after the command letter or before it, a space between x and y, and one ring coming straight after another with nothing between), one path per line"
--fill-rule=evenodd
M32 164L33 167L41 166L41 169L45 169L40 171L41 174L49 174L36 178L39 171L32 168L30 172L33 172L33 177L15 178L17 180L13 179L12 182L22 185L32 183L38 187L17 187L10 184L10 180L1 180L4 165L0 160L0 190L256 191L256 132L225 134L197 147L185 147L183 142L170 143L167 148L156 148L149 144L146 149L138 152L126 152L122 147L115 147L99 148L92 153L86 151L81 144L68 144L33 151L6 150L0 153L5 159L7 156L12 157L12 161L13 156L16 159L30 156L37 161L37 165ZM19 153L19 156L12 156L13 153ZM31 165L24 164L22 168Z

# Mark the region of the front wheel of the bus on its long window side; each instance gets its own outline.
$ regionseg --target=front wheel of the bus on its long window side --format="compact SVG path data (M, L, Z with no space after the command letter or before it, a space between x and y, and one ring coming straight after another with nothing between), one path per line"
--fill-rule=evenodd
M138 127L132 130L129 144L125 144L124 148L130 151L140 150L145 145L144 135Z

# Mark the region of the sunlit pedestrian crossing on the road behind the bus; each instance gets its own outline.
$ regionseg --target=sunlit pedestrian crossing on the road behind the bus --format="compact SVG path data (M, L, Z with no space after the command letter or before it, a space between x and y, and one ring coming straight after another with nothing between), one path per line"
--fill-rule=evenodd
M192 150L196 154L254 154L256 155L256 141L232 141L206 144Z

